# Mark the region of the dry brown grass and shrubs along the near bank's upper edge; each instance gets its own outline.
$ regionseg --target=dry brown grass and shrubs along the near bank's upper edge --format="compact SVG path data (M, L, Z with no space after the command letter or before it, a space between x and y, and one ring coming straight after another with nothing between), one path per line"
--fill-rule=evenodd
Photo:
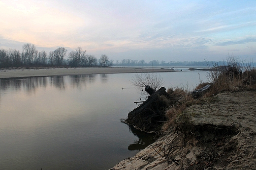
M187 115L185 109L195 103L217 95L224 91L238 90L256 90L256 68L251 65L245 65L238 57L228 56L227 66L215 66L213 71L208 74L208 81L212 83L210 90L204 94L202 99L194 99L189 95L188 90L183 88L172 88L167 90L176 102L166 111L167 121L162 126L163 131L170 128L176 128L182 131L189 123L190 115ZM200 89L208 83L201 83L195 89Z

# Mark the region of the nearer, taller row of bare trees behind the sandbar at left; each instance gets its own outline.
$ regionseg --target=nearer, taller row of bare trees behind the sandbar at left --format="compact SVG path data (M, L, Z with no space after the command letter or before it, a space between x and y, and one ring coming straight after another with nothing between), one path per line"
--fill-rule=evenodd
M67 58L67 59L65 59ZM64 66L70 67L109 67L113 64L107 55L102 54L99 59L86 54L81 47L67 53L67 49L58 48L50 51L38 51L33 44L24 44L22 52L16 49L0 49L0 68L23 66Z

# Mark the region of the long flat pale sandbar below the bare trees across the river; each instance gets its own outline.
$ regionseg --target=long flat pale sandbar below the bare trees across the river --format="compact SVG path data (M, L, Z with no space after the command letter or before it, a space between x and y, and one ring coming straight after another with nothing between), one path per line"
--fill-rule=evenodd
M174 72L170 69L139 69L139 68L51 68L51 69L15 69L1 70L0 78L79 75L79 74L106 74L106 73L150 73Z

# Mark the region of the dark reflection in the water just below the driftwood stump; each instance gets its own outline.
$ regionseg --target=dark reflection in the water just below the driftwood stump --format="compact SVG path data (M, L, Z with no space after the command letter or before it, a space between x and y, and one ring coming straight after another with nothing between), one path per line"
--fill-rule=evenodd
M142 132L130 125L129 125L129 129L135 136L139 138L139 140L134 141L133 144L128 146L129 150L141 150L146 148L150 144L153 144L156 141L156 138L157 138L156 134Z

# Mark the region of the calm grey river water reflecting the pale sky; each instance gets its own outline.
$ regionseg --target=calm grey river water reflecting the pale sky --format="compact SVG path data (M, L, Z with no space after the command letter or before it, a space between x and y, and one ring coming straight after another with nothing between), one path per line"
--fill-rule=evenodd
M207 81L205 72L158 74L166 89ZM106 170L134 156L153 137L120 122L141 98L132 77L0 79L0 169Z

